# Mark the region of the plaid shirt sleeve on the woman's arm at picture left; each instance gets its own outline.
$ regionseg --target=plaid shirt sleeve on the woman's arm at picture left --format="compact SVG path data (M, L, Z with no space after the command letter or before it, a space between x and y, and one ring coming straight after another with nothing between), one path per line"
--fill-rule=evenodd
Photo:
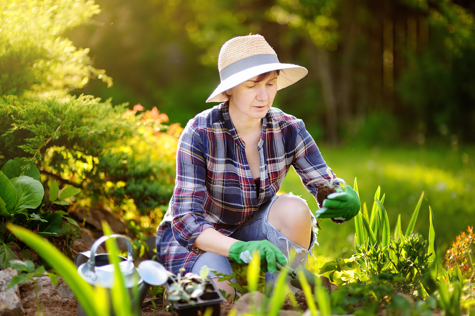
M178 143L177 173L171 198L173 236L181 246L195 254L205 252L193 245L196 238L205 229L213 227L204 218L207 189L203 145L198 131L188 124Z

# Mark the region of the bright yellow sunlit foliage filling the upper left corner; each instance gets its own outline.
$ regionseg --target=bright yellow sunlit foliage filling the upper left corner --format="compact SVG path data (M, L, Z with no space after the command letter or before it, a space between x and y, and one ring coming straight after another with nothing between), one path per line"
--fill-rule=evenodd
M92 76L111 86L90 65L89 48L60 37L99 12L86 0L0 1L0 94L65 95Z

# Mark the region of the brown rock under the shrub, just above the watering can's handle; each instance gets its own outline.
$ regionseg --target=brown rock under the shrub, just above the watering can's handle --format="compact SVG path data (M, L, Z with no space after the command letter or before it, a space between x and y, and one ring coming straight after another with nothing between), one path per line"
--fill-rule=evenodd
M126 234L128 232L127 224L122 218L103 208L78 207L74 212L69 212L69 216L78 223L82 223L84 221L84 213L86 213L86 223L93 225L101 232L102 221L106 221L115 233Z

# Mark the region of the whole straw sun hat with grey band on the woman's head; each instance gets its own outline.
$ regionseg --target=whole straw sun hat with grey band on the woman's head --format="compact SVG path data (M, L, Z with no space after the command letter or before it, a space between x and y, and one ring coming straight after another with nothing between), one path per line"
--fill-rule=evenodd
M302 79L307 69L293 64L281 64L277 54L262 35L247 35L231 38L221 47L218 56L218 70L221 84L206 102L228 101L222 95L228 89L259 74L282 70L277 77L277 90Z

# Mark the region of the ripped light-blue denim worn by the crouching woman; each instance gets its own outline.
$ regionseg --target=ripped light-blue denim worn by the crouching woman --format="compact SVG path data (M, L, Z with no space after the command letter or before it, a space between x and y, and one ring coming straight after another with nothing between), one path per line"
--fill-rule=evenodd
M291 195L292 193L289 193ZM282 195L276 195L270 199L259 209L259 212L252 217L250 217L246 222L240 224L235 232L233 232L229 237L235 238L243 242L249 242L253 240L268 240L272 242L277 248L282 251L285 257L289 258L289 250L293 248L295 250L294 261L291 265L292 269L295 269L297 266L304 266L307 263L308 255L313 251L315 243L318 245L316 233L318 229L315 227L316 220L314 214L310 212L312 216L312 237L310 242L309 249L304 249L302 246L297 245L295 242L290 241L287 237L279 232L274 226L272 226L267 217L269 210L272 204ZM221 256L215 253L206 252L198 257L198 259L193 264L191 272L199 274L201 267L206 265L211 270L216 270L223 274L231 274L233 270L229 263L229 258ZM218 278L214 273L210 272L210 278ZM277 279L277 273L266 272L266 284L274 284ZM290 285L289 285L290 286ZM296 292L298 289L290 286L292 292Z

